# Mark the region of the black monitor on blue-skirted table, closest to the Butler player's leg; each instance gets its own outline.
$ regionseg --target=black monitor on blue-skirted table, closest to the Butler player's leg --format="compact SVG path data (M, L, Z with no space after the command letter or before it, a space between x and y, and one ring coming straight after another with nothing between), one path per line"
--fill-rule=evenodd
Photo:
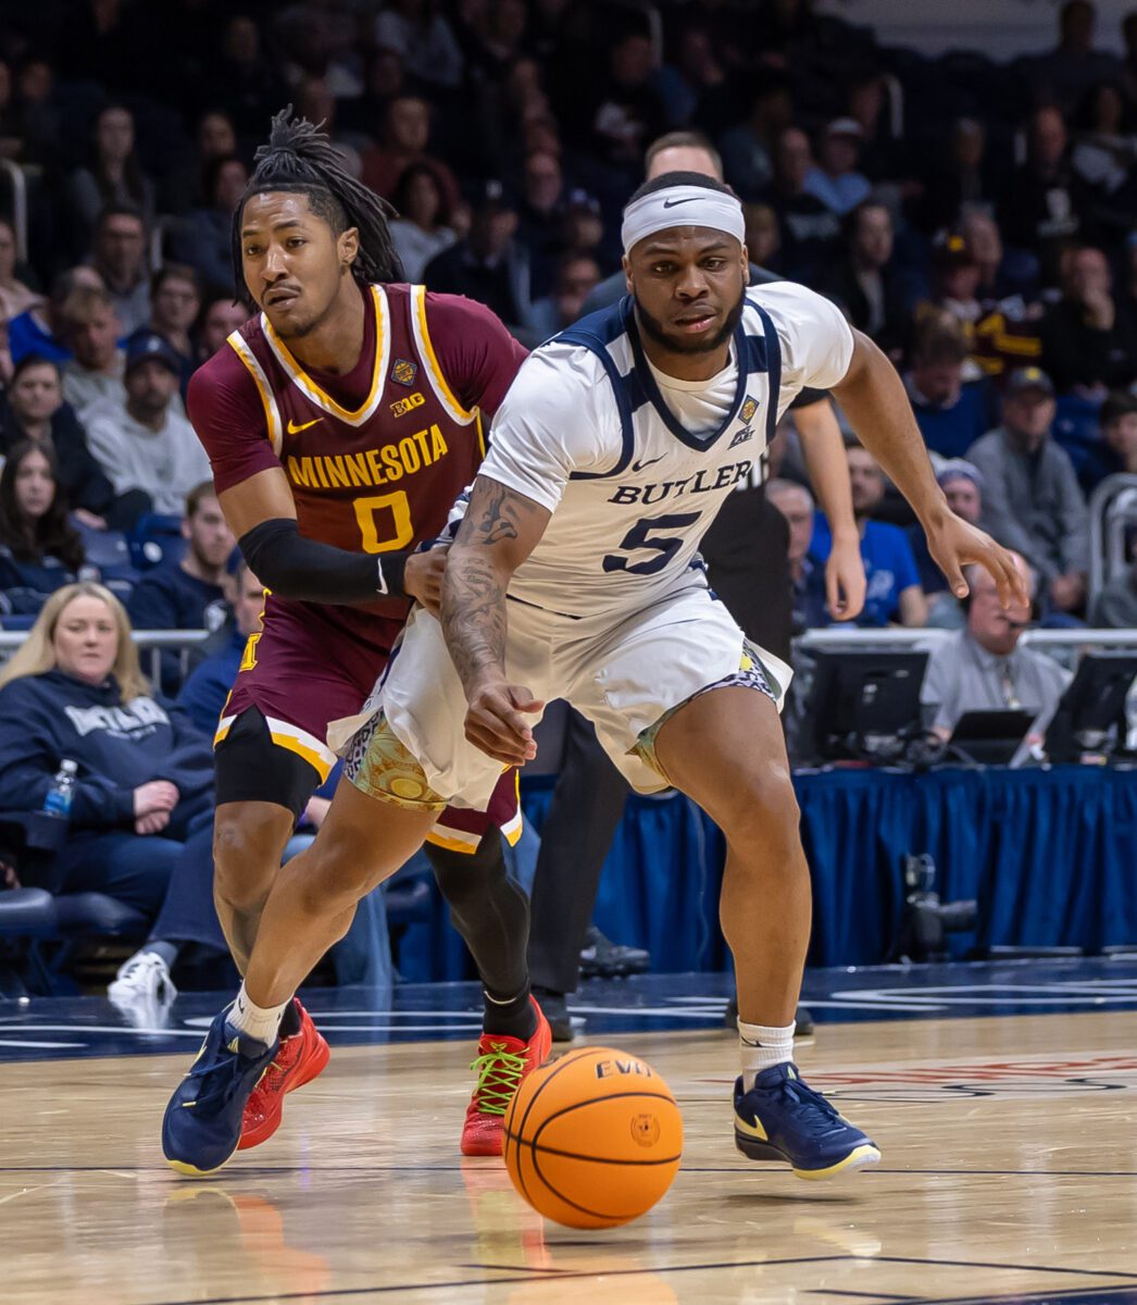
M896 762L921 733L927 652L818 652L811 714L824 761Z

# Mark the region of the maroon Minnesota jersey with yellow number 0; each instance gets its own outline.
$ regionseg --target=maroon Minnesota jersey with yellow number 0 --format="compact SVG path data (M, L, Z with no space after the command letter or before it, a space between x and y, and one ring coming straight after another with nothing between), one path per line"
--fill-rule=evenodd
M364 342L351 372L305 371L262 313L194 375L189 411L218 492L280 466L301 535L385 553L442 531L485 453L482 414L497 408L524 350L472 300L404 284L361 292ZM274 608L389 650L409 602L270 596L266 628Z

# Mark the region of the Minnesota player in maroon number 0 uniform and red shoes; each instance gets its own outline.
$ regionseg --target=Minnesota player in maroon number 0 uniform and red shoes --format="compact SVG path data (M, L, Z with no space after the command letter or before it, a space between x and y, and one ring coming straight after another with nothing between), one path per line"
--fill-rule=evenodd
M233 217L237 294L261 312L189 386L226 518L269 590L215 739L215 900L243 971L284 844L335 763L329 722L360 710L411 603L437 611L445 555L417 545L472 482L482 419L524 358L482 305L399 283L387 206L289 114L273 120ZM525 968L528 902L495 826L520 831L515 773L489 813L445 813L428 851L485 993L468 1155L501 1154L505 1107L549 1052ZM280 1035L240 1147L271 1137L284 1094L327 1062L299 1001Z

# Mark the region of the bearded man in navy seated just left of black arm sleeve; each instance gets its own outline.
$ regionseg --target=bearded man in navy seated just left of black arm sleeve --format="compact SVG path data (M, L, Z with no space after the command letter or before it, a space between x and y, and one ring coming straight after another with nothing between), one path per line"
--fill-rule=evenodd
M136 630L219 630L228 615L226 576L236 548L213 480L194 485L181 522L185 552L180 561L146 572L130 594L128 611ZM162 688L181 683L177 654L162 654Z

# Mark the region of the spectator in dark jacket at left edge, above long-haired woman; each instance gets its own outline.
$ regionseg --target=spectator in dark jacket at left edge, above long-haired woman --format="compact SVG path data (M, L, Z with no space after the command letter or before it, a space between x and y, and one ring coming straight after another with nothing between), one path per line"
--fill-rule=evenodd
M25 440L51 450L59 483L82 525L91 530L121 527L120 509L129 515L132 505L116 501L115 487L91 453L86 431L63 401L59 368L34 354L16 364L12 384L0 398L0 454L10 455Z

